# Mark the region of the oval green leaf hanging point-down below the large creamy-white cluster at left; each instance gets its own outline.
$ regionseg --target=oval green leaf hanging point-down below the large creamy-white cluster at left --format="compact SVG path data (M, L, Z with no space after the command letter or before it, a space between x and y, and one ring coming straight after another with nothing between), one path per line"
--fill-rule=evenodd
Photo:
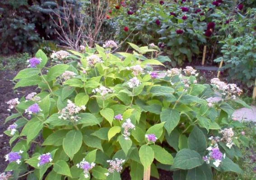
M65 153L73 159L82 145L83 135L79 130L70 130L63 139L63 149Z

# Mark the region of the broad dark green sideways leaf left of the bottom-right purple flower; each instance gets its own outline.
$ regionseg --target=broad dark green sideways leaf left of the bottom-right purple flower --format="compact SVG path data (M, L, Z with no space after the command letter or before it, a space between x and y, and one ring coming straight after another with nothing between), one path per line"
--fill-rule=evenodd
M193 169L203 163L204 161L199 153L191 149L182 149L176 154L172 169Z

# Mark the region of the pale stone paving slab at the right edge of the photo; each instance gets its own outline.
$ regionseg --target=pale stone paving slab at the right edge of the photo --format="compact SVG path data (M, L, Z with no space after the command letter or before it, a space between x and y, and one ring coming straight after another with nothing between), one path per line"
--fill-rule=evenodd
M232 116L236 117L239 121L256 122L256 106L251 106L251 109L249 108L237 109L235 110Z

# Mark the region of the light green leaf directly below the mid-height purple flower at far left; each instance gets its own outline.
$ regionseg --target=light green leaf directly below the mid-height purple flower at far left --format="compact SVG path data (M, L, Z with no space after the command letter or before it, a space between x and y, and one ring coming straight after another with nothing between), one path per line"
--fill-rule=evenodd
M37 117L34 117L28 123L23 127L23 130L21 131L20 135L26 135L27 136L27 144L34 139L39 132L42 130L43 124L42 121L40 121Z

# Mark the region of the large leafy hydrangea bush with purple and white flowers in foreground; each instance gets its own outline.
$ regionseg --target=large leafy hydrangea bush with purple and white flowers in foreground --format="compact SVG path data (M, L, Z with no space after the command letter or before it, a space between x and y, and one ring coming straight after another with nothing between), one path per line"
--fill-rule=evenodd
M227 102L247 106L237 98L241 90L218 79L197 84L192 67L148 72L149 64L163 65L143 55L156 50L130 45L133 54L111 54L113 41L106 49L70 50L79 61L52 67L42 50L29 59L15 88L37 85L41 92L7 102L15 113L6 122L17 120L5 134L10 145L19 141L6 155L6 171L54 180L121 180L126 167L141 180L149 166L155 177L157 168L174 171L174 180L209 180L211 168L242 173L232 161L241 139Z

